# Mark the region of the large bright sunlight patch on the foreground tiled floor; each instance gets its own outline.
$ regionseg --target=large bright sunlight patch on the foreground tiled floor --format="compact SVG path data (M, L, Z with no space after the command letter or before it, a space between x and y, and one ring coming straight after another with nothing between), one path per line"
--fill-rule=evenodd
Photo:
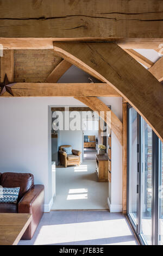
M126 236L124 241L121 237ZM120 237L120 238L119 238ZM112 243L135 243L125 219L42 225L34 245L111 239ZM119 241L118 241L119 240ZM125 241L126 240L126 241ZM128 241L129 240L129 241ZM106 240L107 241L107 240Z

